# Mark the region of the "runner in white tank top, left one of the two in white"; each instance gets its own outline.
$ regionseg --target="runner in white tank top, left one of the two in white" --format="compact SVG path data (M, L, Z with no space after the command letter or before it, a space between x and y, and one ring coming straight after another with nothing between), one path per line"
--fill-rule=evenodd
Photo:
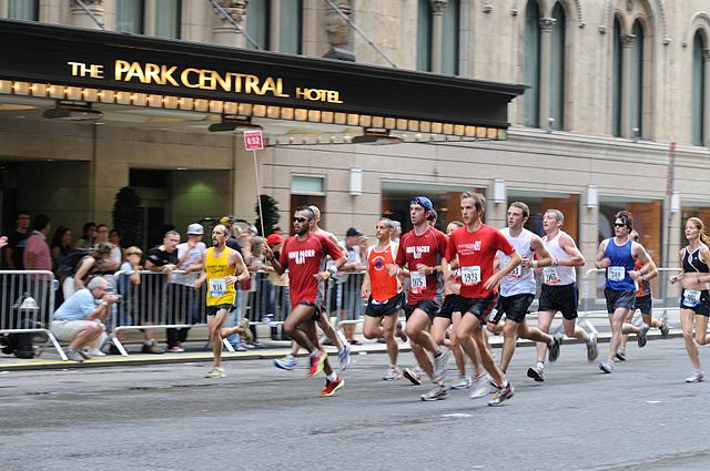
M521 257L520 265L503 277L500 281L500 297L498 298L498 315L505 314L503 327L503 352L500 354L500 369L508 370L515 354L517 338L524 338L547 344L550 361L559 356L561 336L550 336L525 321L528 308L535 300L535 268L551 265L552 256L545 248L542 239L523 227L530 217L530 208L523 202L510 204L507 213L508 227L500 231ZM537 259L535 259L537 257ZM498 253L499 266L506 266L509 257Z

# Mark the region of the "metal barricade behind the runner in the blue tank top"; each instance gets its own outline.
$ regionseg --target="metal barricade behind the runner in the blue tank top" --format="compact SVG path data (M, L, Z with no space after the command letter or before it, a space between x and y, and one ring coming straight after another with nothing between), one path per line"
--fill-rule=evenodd
M669 285L668 278L680 273L680 268L658 268L658 276L650 280L653 300L653 317L663 318L669 327L680 326L679 299L680 284ZM608 327L609 315L607 313L604 288L606 285L606 270L591 268L581 278L581 309L579 320L590 331L597 332L595 324ZM632 322L640 325L640 313L636 311Z

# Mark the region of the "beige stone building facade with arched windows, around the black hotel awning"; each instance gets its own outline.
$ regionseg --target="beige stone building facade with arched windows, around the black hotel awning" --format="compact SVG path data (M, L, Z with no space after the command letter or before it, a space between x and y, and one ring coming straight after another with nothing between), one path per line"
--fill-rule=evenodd
M372 234L381 214L406 226L414 194L453 221L459 193L477 188L493 225L505 224L516 199L530 205L534 229L545 208L561 209L588 259L612 234L613 213L629 209L642 243L667 265L684 218L710 216L704 0L83 3L0 0L0 17L528 85L509 105L505 141L412 132L396 145L371 145L341 129L345 139L333 144L333 129L265 125L271 145L258 153L258 182L277 201L282 226L306 202L323 208L336 234L349 226ZM0 104L6 226L24 208L78 232L84 221L110 221L126 185L139 190L149 225L255 217L254 160L239 133L206 132L209 112L131 110L87 125L42 120L31 106Z

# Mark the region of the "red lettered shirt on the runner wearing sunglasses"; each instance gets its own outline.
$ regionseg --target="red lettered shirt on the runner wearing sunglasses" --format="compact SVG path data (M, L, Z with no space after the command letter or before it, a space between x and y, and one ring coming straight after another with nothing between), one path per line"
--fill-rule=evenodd
M305 240L297 236L287 237L278 262L288 268L291 305L313 303L322 307L325 300L325 283L315 275L325 269L327 256L337 260L343 256L341 248L321 234L308 234Z

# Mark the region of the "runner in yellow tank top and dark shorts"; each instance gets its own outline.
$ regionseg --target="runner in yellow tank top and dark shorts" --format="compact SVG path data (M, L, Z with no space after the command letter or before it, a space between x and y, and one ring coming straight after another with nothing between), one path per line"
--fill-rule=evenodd
M196 288L200 288L205 280L207 281L207 329L212 339L214 360L212 370L205 375L206 378L226 376L222 368L222 339L233 334L244 334L242 326L222 328L224 319L234 309L235 285L248 279L248 270L242 256L225 245L227 237L226 226L222 224L214 226L212 247L202 252L200 259L202 273L195 281Z

